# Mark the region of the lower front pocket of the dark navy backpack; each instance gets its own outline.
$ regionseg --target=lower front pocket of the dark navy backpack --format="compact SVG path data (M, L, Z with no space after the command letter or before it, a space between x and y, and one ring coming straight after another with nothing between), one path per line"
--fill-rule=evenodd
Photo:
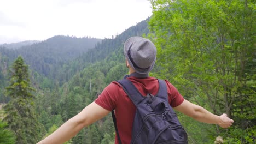
M145 116L131 143L187 143L187 133L176 119L176 114L170 111Z

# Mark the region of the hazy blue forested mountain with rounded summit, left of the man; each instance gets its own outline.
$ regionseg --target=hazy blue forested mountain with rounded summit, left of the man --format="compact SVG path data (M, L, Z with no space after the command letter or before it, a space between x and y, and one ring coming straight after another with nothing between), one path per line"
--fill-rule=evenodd
M39 74L49 76L49 74L53 74L51 71L60 69L66 62L93 49L97 43L101 43L101 39L56 35L39 43L24 45L20 49L8 49L2 46L0 47L0 58L5 57L5 61L10 63L21 55L31 69Z

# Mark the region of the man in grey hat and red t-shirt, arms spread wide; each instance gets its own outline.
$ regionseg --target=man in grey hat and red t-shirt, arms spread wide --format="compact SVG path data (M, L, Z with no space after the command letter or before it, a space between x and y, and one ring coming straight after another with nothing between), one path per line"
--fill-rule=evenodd
M130 74L126 79L130 80L142 95L158 93L158 80L148 76L149 71L153 69L155 64L155 45L148 39L131 37L124 44L124 53L126 67L129 68ZM165 80L165 83L168 102L174 110L182 112L199 122L218 124L222 128L228 128L234 122L226 114L217 116L201 106L190 103L179 94L170 82ZM94 102L39 143L63 143L68 141L81 129L107 116L113 109L115 109L121 141L122 143L130 143L136 107L118 82L110 83ZM115 143L118 143L117 136L115 137Z

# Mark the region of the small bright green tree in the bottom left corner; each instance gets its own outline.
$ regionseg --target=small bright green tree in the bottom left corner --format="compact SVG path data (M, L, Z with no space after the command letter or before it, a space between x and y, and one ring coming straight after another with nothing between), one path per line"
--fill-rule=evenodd
M6 122L0 121L0 144L14 144L16 137L12 131L7 129Z

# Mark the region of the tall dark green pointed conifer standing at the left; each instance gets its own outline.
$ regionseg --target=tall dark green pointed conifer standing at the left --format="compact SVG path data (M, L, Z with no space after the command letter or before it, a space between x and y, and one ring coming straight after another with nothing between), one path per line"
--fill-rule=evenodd
M19 56L10 70L10 84L6 87L6 94L10 101L4 106L6 116L4 121L8 128L16 135L17 143L36 143L40 134L40 124L37 121L34 98L31 93L28 66Z

